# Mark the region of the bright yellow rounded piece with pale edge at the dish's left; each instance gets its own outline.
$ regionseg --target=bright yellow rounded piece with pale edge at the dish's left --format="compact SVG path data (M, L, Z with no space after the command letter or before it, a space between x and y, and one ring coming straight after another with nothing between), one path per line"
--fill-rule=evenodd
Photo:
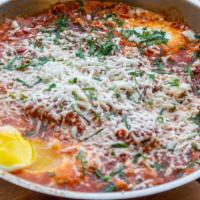
M12 126L0 127L0 169L16 171L34 161L32 144Z

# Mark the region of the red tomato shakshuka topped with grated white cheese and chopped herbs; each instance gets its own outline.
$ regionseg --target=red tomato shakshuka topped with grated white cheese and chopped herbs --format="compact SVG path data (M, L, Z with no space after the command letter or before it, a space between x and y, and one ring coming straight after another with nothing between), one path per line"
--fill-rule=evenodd
M138 190L200 169L200 35L101 1L6 19L0 169L80 192Z

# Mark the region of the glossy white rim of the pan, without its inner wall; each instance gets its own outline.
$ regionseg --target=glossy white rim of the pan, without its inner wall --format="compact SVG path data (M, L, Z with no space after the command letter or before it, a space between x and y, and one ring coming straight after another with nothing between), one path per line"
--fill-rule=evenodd
M200 9L200 0L185 0L189 4L196 6ZM0 6L8 3L9 0L0 0ZM31 191L52 195L56 197L64 197L64 198L72 198L72 199L129 199L129 198L139 198L139 197L146 197L153 194L158 194L162 192L169 191L171 189L175 189L177 187L183 186L187 183L190 183L198 178L200 178L200 169L187 175L182 178L158 185L153 186L150 188L134 190L134 191L127 191L127 192L110 192L110 193L91 193L91 192L75 192L70 190L62 190L51 188L47 186L43 186L31 181L27 181L25 179L19 178L13 174L0 170L0 178L15 184L17 186L26 188Z

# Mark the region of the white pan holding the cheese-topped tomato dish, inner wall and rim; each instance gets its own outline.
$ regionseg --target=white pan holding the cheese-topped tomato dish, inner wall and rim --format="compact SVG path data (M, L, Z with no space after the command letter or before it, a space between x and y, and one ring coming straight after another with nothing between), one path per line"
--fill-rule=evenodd
M0 21L5 17L15 15L34 14L58 0L0 0ZM195 31L200 32L200 0L124 0L132 5L143 7L156 12L165 12L170 18L182 18ZM0 178L21 187L58 197L74 199L128 199L145 197L152 194L168 191L200 178L200 170L186 177L165 183L152 188L111 193L79 193L41 186L12 174L0 171Z

